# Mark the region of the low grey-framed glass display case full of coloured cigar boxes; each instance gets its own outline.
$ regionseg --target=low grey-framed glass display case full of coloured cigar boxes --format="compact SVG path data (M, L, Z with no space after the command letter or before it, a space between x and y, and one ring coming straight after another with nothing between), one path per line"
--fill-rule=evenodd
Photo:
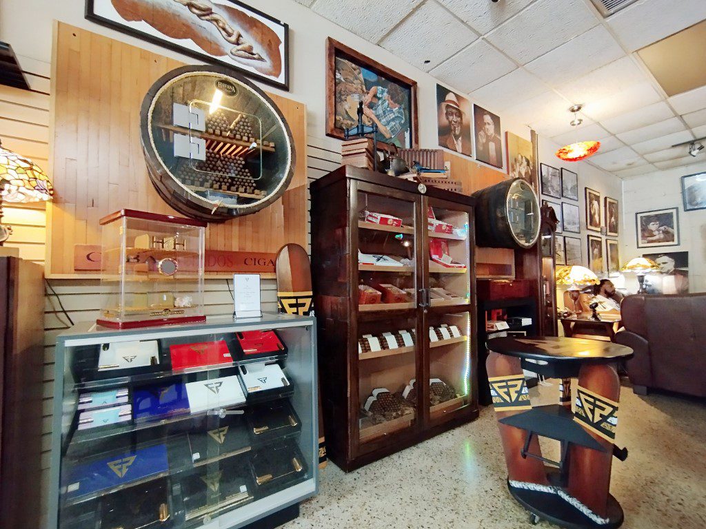
M62 334L48 527L239 528L311 497L315 355L290 315Z

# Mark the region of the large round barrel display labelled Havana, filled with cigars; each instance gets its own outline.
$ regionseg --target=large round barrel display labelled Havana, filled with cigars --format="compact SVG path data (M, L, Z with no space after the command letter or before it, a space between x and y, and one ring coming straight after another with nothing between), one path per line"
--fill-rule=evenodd
M218 66L183 66L152 85L140 133L150 178L177 211L205 221L257 212L287 189L294 142L258 87Z

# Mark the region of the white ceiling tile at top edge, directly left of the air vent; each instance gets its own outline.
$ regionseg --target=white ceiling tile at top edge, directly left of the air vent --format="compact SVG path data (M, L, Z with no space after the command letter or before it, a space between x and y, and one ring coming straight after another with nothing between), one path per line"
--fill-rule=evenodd
M487 39L526 64L597 24L583 0L538 0L492 30Z

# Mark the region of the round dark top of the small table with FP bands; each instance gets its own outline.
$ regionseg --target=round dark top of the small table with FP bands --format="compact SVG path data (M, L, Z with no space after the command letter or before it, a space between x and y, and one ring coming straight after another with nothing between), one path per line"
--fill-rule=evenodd
M496 353L518 358L531 358L545 362L611 363L618 358L628 358L633 350L610 341L581 338L492 338L486 342Z

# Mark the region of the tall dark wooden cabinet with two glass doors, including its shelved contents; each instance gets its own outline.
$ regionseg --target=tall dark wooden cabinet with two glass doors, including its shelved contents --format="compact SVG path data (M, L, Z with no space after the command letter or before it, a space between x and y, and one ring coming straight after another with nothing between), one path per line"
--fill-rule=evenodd
M478 415L474 200L353 166L311 195L327 454L352 470Z

